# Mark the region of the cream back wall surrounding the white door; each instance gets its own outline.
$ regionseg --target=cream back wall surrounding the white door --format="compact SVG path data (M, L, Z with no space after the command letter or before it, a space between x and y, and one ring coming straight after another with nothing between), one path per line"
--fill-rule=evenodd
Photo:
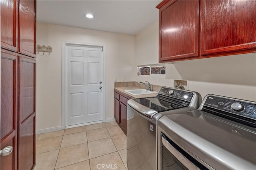
M37 43L50 45L36 58L36 130L61 127L62 40L106 45L106 119L114 117L114 76L133 80L134 36L37 23Z

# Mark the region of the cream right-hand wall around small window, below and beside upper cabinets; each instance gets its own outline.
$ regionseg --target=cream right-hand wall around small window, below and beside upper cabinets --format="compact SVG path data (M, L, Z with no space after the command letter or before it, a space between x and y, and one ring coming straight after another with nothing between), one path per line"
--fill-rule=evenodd
M158 21L135 36L134 69L158 63ZM166 64L166 78L137 76L134 80L173 87L174 79L189 79L189 90L256 101L256 53Z

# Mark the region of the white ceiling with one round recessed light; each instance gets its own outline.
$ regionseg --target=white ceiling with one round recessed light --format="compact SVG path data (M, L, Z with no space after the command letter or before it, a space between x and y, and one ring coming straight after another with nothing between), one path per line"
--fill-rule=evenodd
M38 0L37 21L136 35L158 20L162 0ZM84 14L92 13L93 19Z

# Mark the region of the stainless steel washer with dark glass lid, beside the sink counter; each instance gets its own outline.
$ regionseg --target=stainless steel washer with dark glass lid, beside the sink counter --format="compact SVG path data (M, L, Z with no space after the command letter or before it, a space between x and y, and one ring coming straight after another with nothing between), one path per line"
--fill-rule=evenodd
M163 115L197 109L197 92L162 87L156 97L127 102L127 165L129 170L156 170L157 121Z

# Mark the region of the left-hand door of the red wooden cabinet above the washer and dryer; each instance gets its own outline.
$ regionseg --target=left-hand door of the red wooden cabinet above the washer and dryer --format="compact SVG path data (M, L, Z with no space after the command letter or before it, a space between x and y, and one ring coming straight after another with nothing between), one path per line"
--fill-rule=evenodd
M198 57L199 2L166 2L159 9L159 63Z

